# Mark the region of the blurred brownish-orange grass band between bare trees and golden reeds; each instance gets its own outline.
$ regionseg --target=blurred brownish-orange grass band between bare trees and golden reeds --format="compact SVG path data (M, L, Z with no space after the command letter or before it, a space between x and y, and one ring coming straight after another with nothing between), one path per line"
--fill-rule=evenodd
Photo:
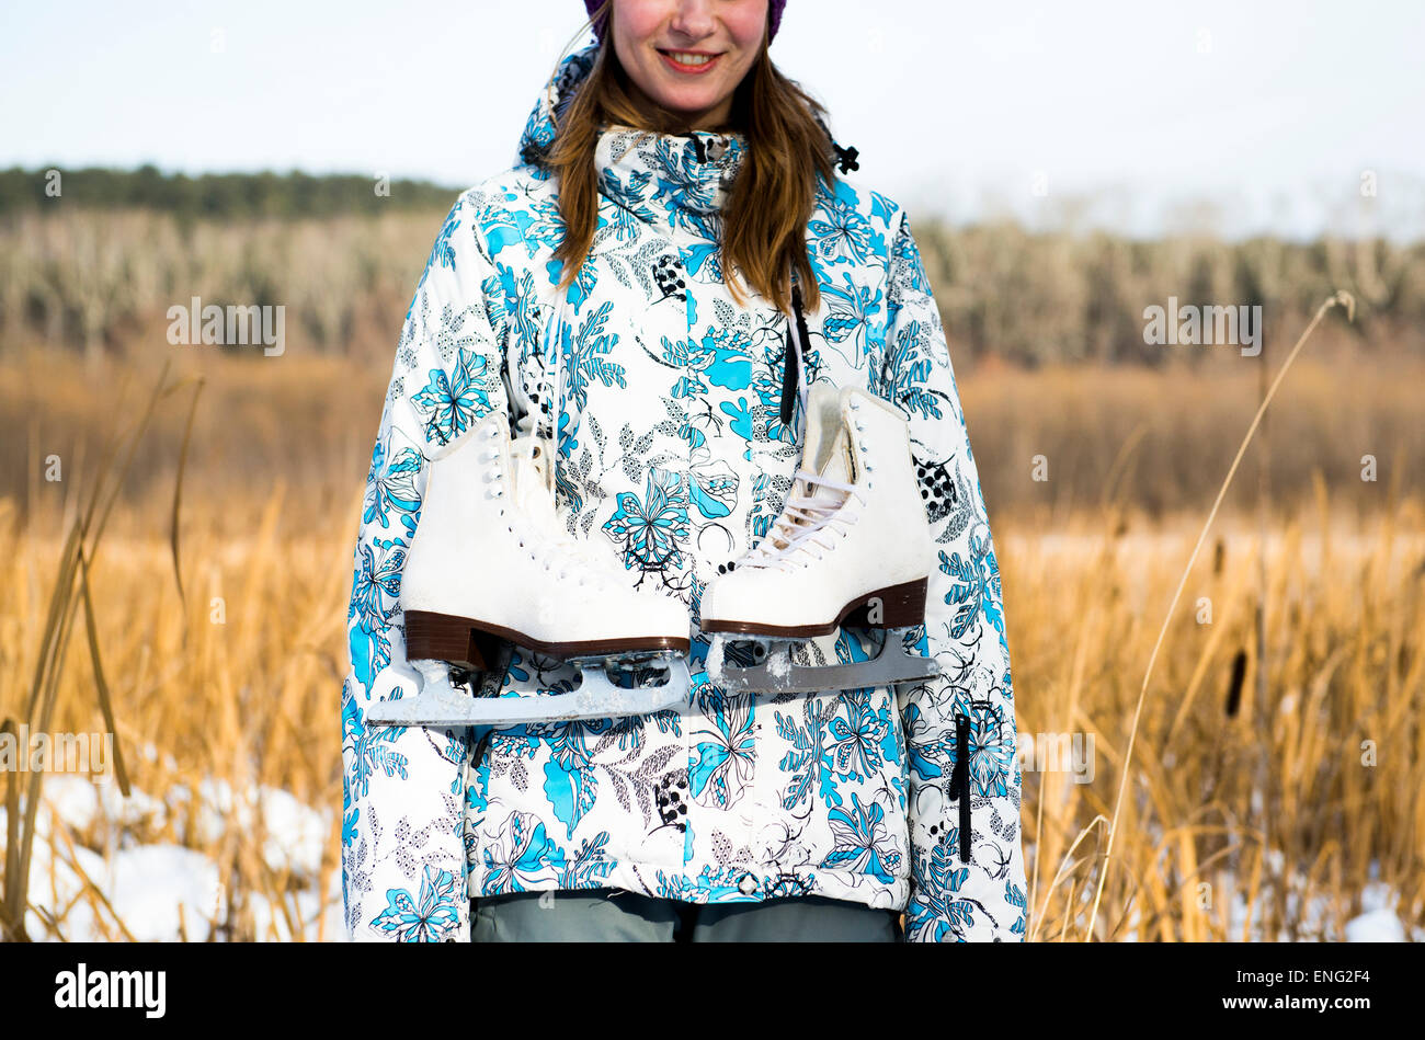
M155 335L161 342L161 328ZM1318 359L1317 346L1292 368L1268 413L1274 504L1285 513L1310 506L1318 474L1340 507L1359 513L1382 509L1391 489L1425 486L1418 393L1425 363L1338 363ZM31 503L50 509L67 487L83 486L84 470L103 452L117 388L151 383L155 360L171 359L175 373L205 379L185 482L192 501L221 499L227 509L204 523L231 534L251 529L261 494L242 492L265 492L274 480L286 483L289 513L306 526L322 523L366 474L393 348L395 336L386 356L365 363L298 353L242 362L218 358L214 348L167 343L128 363L16 350L0 363L7 433L0 497L13 497L23 514ZM1110 479L1150 513L1206 511L1258 400L1257 368L1247 359L1211 373L982 368L960 373L959 388L990 510L1050 527L1097 509ZM167 523L185 419L182 402L154 415L115 530L145 533ZM1258 437L1248 453L1228 506L1254 506L1263 443ZM44 479L50 454L63 462L60 483ZM1377 459L1374 482L1361 480L1367 454ZM1046 482L1033 479L1036 456L1047 460Z

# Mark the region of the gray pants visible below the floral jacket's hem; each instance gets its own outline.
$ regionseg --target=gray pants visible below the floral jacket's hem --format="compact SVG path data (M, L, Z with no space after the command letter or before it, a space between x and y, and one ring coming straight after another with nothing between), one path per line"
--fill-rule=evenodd
M899 919L899 910L819 896L698 905L598 889L476 899L470 930L477 943L893 943Z

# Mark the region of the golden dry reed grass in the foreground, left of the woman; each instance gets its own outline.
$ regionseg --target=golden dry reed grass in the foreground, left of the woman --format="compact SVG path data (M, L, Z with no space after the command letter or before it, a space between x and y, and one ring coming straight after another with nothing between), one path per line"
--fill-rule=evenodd
M278 915L288 915L286 935L302 933L294 893L329 892L331 872L341 869L338 711L355 500L351 510L333 511L319 537L285 523L282 504L282 489L271 489L256 527L241 539L204 531L204 519L221 504L191 509L195 523L182 546L187 604L174 581L167 537L105 540L93 568L98 644L130 782L144 792L141 805L151 798L170 802L157 816L141 813L124 835L209 856L222 900L214 909L217 932L232 937L282 935L255 930L249 902L258 893ZM23 718L61 540L51 526L17 531L13 519L11 503L0 504L0 717ZM71 645L46 731L104 728L95 672L83 645ZM278 788L304 805L329 809L333 826L316 875L294 878L271 866L261 806L219 802L219 813L251 812L254 825L214 835L211 822L200 818L198 799L165 798L214 782L238 802L261 788ZM71 839L103 851L114 842L114 829L97 822ZM71 859L63 845L58 856ZM95 917L101 933L124 935L111 913ZM64 932L63 919L57 930Z

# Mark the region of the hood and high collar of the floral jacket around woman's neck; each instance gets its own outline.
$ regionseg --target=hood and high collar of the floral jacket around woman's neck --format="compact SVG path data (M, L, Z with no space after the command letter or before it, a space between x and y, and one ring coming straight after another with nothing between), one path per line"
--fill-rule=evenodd
M546 155L554 142L556 121L593 70L598 47L590 44L560 61L524 124L517 164L549 170ZM817 121L831 140L826 124L821 117ZM594 162L600 191L634 217L660 225L674 238L715 242L722 204L747 148L747 137L735 131L660 135L614 124L600 135ZM855 148L832 141L832 161L841 164L842 172L856 168Z

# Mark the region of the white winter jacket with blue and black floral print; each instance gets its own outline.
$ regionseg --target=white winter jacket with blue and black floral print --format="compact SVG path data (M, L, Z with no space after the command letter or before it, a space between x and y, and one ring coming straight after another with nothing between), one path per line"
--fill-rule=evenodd
M519 165L460 195L400 333L348 620L351 933L467 939L467 896L614 888L695 903L819 895L903 909L912 940L1023 939L999 571L905 211L844 178L821 185L807 227L821 302L805 315L804 380L864 386L909 420L939 547L919 652L940 677L899 694L728 694L708 681L698 604L767 531L801 462L801 403L791 429L779 413L788 318L750 288L740 306L724 284L720 207L747 142L708 131L604 131L598 232L554 299L563 224L542 148L593 56L560 64ZM569 529L610 539L630 581L688 604L684 707L476 732L365 725L373 701L415 691L400 573L428 456L490 410L516 433L556 419ZM805 650L798 660L824 662L868 648L842 630ZM576 682L573 665L516 650L503 694Z

